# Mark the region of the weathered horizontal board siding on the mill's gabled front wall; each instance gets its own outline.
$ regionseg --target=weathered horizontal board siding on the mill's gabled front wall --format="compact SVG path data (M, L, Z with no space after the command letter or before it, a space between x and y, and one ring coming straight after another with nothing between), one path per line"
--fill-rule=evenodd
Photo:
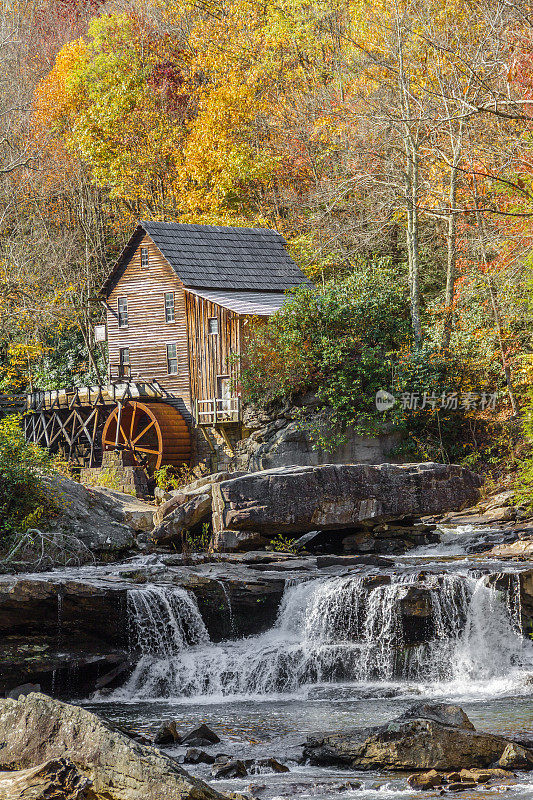
M141 266L141 247L148 248L149 267ZM165 320L165 292L174 292L175 322ZM117 301L128 300L128 327L119 328ZM108 297L109 364L116 375L119 349L129 347L133 380L156 378L191 410L189 352L183 284L149 236L133 253L124 274ZM178 374L169 375L167 344L177 345Z

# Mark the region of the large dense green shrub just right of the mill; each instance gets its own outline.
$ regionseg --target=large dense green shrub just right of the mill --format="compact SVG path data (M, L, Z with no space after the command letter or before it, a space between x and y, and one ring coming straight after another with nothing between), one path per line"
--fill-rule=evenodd
M324 288L302 286L249 337L243 392L261 405L316 392L328 423L314 438L326 448L343 440L347 426L375 433L386 419L376 392L391 386L391 356L409 339L404 282L386 265Z

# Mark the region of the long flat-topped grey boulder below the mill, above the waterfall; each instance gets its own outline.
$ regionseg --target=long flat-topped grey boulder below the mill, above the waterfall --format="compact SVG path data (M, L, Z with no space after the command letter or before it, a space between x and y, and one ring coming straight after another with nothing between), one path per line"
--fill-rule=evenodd
M480 478L454 464L326 464L249 473L213 486L213 528L272 536L419 517L477 499Z

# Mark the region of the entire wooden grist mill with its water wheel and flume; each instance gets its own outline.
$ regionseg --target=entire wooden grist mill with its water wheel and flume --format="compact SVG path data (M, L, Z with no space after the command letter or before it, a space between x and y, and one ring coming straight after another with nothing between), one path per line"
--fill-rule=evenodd
M242 436L249 331L308 283L277 231L139 223L97 298L106 385L28 395L26 437L80 467L113 450L149 475L218 468Z

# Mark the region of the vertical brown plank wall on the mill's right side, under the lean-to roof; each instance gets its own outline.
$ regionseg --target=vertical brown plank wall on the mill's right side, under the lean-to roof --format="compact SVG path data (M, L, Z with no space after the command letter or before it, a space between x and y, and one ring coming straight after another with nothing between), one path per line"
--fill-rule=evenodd
M240 354L241 317L233 311L185 293L193 398L217 397L217 377L230 375L237 380L237 368L230 362L232 353ZM218 334L210 334L208 320L218 319Z

